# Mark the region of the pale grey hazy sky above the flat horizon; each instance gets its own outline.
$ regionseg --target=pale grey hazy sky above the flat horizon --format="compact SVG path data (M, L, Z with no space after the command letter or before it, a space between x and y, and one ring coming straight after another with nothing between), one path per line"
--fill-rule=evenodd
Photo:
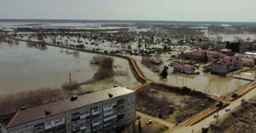
M0 0L0 19L256 22L256 1Z

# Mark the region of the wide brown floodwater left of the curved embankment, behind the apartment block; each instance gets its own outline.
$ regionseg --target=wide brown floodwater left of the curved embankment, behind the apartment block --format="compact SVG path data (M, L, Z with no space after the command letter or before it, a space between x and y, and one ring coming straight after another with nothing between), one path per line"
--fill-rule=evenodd
M98 69L89 63L95 54L79 52L74 56L65 51L73 52L53 46L31 46L22 41L19 44L0 43L0 94L42 87L59 88L69 81L69 73L72 81L78 83L91 79ZM126 60L115 58L114 65L121 66L114 70L127 70L128 76L115 75L109 81L92 85L93 90L111 88L115 84L129 88L139 85Z

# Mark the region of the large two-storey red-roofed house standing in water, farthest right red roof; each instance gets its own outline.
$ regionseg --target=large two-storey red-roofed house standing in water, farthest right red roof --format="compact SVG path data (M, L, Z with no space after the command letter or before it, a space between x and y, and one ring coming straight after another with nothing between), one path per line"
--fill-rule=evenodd
M228 72L241 68L242 60L238 57L224 57L212 63L212 74L225 75Z

